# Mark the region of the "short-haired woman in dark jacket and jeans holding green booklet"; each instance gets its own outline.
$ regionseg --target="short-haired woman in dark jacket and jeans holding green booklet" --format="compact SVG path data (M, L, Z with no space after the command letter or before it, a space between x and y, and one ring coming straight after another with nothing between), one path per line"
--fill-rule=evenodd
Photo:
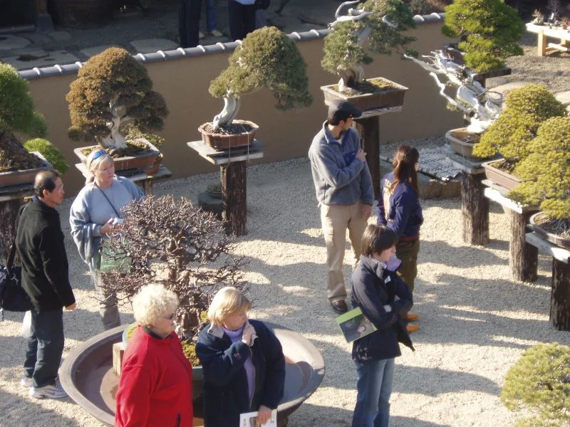
M353 342L358 394L352 427L388 427L394 359L402 354L398 343L414 349L404 321L413 305L412 294L403 280L386 268L397 240L390 228L367 226L361 260L351 278L352 306L360 307L377 329Z

